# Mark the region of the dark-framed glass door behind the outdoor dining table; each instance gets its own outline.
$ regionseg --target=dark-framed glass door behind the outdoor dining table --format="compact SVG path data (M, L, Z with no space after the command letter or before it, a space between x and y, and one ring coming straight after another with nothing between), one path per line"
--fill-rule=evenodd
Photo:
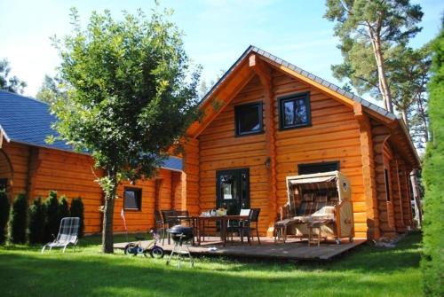
M225 207L227 215L239 215L242 208L250 208L249 168L218 170L216 179L216 207Z

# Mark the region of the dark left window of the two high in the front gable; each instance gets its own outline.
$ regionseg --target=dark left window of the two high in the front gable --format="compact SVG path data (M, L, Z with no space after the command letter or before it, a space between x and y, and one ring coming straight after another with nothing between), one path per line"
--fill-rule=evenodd
M263 132L262 102L243 106L235 106L236 136Z

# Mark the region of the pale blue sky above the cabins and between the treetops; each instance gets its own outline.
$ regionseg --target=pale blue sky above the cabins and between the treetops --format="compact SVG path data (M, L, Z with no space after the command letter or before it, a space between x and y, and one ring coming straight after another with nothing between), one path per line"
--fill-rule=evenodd
M412 46L428 42L440 29L444 12L442 0L413 1L423 7L423 31ZM322 0L242 0L242 1L162 1L173 8L172 20L185 33L186 52L194 63L203 66L202 78L214 79L221 69L228 69L250 45L256 45L281 59L322 78L337 82L330 65L340 63L333 24L322 18ZM9 59L12 74L28 82L25 94L35 96L44 74L54 74L59 64L50 36L67 35L69 8L75 6L83 25L92 11L109 9L116 18L122 11L147 12L151 0L136 1L24 1L0 0L0 59Z

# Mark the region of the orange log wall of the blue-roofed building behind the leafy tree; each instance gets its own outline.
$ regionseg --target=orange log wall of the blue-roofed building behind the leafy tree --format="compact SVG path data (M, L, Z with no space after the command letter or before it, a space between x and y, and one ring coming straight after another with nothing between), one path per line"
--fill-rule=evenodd
M45 199L48 191L52 190L58 191L59 197L67 196L69 203L71 199L81 197L84 205L85 232L101 231L102 213L99 207L104 204L103 193L99 184L94 182L101 173L92 169L93 161L90 156L15 143L3 143L2 150L12 160L12 197L20 192L26 192L29 199L36 197ZM2 164L0 163L0 168L4 170ZM158 189L156 180L162 181ZM147 231L154 226L156 196L159 198L159 207L172 207L172 181L171 171L161 169L155 179L139 180L136 184L123 182L117 191L118 199L115 200L115 231L124 231L120 215L124 187L142 190L141 210L124 212L128 230Z

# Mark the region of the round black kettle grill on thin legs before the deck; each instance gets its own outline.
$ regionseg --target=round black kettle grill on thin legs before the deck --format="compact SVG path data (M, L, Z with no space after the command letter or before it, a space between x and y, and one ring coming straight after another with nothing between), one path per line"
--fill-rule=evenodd
M194 261L193 257L191 256L190 250L188 248L189 245L184 245L185 249L182 246L182 244L184 243L189 244L190 241L193 240L194 238L193 228L182 225L175 225L172 226L170 229L168 229L167 232L170 233L170 237L172 238L172 241L174 241L174 247L171 250L170 258L168 258L167 265L170 264L173 254L177 254L178 269L180 269L180 260L183 258L184 254L186 254L190 259L191 267L193 267Z

